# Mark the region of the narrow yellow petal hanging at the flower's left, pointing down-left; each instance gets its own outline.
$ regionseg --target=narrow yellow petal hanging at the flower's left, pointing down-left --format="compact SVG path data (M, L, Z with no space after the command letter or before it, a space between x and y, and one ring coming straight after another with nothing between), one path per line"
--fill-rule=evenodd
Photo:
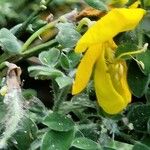
M72 88L72 94L81 92L87 85L93 70L93 66L101 52L101 44L91 45L82 58Z

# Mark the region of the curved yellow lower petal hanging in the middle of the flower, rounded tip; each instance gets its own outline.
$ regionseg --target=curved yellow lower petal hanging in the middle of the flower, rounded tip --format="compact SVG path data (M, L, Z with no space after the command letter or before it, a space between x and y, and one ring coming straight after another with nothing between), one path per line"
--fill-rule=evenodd
M94 71L94 86L99 105L109 114L116 114L126 106L123 97L115 90L105 62L105 49L97 60Z

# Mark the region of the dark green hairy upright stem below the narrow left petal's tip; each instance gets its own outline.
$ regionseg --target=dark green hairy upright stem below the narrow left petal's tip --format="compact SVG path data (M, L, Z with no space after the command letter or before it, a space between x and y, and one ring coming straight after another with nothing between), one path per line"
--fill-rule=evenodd
M61 89L61 91L58 94L57 98L54 100L53 111L55 111L55 112L59 111L59 108L60 108L62 102L66 100L69 89L70 89L70 86Z

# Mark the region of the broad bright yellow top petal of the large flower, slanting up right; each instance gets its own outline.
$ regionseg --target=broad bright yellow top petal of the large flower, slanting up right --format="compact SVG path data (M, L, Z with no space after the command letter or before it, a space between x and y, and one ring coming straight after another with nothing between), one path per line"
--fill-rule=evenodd
M90 45L103 43L120 32L134 29L145 14L141 8L112 9L97 21L78 41L75 51L84 52Z

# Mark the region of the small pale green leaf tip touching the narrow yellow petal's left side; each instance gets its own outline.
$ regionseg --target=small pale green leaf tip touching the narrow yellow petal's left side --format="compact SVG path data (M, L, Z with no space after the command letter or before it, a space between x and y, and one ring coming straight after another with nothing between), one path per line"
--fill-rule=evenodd
M71 85L72 82L73 82L73 79L70 78L70 77L65 76L65 77L58 77L58 78L55 79L55 81L59 85L59 88L62 89L66 86Z

